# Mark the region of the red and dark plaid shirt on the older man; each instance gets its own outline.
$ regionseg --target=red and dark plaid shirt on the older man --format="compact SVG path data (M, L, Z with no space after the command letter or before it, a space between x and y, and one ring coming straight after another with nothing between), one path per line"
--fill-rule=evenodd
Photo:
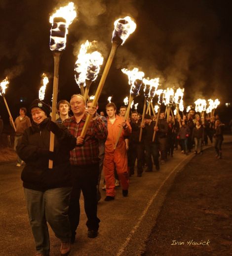
M69 129L69 132L76 138L80 136L84 127L86 114L77 123L74 116L66 119L63 124ZM84 144L76 146L75 149L70 151L70 162L72 165L89 165L99 162L99 149L98 140L106 140L107 128L100 118L91 120L87 133L84 138Z

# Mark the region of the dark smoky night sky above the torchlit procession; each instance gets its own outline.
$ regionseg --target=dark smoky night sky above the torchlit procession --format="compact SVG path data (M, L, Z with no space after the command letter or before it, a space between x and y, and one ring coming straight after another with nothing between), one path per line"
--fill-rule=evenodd
M49 49L54 9L66 0L0 0L0 81L8 77L5 98L12 116L38 98L42 73L49 74L44 101L51 104L54 61ZM120 69L138 67L145 77L160 77L161 88L185 88L184 104L197 98L232 102L232 15L230 0L73 0L77 19L70 25L60 61L58 101L79 93L74 64L79 46L96 40L104 63L111 50L114 21L131 16L137 29L116 56L99 99L119 107L129 94L128 78ZM23 101L23 102L20 102ZM143 93L135 99L141 111ZM0 115L8 114L0 97Z

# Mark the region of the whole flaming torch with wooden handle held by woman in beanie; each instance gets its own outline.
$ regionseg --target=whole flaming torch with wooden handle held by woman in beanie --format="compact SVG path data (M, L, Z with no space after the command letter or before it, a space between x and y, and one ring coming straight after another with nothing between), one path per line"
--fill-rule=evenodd
M66 48L66 37L68 34L68 27L73 22L77 12L75 11L74 3L70 2L65 7L60 7L52 16L50 16L51 35L50 35L50 50L54 57L54 79L53 79L53 98L52 98L52 114L51 120L55 122L56 119L56 103L58 91L58 77L59 77L59 63L61 53ZM54 151L54 133L50 133L50 147L49 151ZM53 161L49 159L48 167L52 169Z

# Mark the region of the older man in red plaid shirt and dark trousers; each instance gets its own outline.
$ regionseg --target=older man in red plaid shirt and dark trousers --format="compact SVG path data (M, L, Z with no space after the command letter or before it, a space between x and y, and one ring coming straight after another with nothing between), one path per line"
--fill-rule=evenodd
M76 229L79 224L81 191L87 216L88 237L94 238L98 234L100 222L97 217L96 189L99 176L98 141L105 140L108 132L105 124L96 115L96 107L85 108L85 101L81 95L73 95L70 105L74 116L66 119L63 124L77 138L77 146L70 152L73 190L70 198L69 218L72 230L71 243L74 243ZM86 113L92 116L92 120L85 137L82 137L80 134L85 123Z

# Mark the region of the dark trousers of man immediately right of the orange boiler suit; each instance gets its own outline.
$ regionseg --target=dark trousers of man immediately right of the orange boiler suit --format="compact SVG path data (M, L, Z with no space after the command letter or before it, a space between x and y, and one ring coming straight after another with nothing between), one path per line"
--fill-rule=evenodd
M141 174L143 172L143 155L144 155L143 143L130 143L128 161L129 161L131 174L134 174L136 158L137 158L137 174Z

